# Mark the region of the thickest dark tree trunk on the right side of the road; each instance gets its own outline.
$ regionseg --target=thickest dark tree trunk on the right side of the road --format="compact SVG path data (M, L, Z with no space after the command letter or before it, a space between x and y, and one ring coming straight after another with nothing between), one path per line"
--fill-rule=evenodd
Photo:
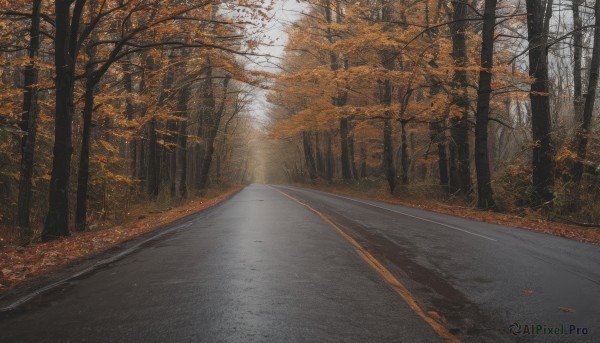
M552 0L526 0L529 41L529 76L531 84L531 129L533 134L533 194L532 205L552 204L554 186L554 148L548 86L548 27L552 15Z

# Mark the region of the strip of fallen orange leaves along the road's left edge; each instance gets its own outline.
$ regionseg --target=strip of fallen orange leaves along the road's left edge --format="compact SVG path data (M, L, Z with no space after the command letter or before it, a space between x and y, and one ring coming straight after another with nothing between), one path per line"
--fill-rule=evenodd
M116 262L145 244L168 236L181 229L179 226L192 217L208 212L242 189L234 186L215 197L195 199L183 206L150 213L114 228L74 234L61 241L26 248L4 248L0 251L0 283L8 283L10 287L0 291L0 313L16 310L41 294L52 292L72 280ZM107 235L115 237L103 240ZM76 252L52 260L55 251L61 249ZM7 274L15 269L22 275L8 282Z

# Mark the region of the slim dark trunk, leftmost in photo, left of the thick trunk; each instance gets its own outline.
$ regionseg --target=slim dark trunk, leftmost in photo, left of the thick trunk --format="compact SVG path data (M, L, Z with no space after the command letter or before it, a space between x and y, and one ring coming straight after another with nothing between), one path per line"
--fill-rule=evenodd
M42 0L33 0L31 10L31 27L29 29L29 64L25 67L23 95L23 116L21 118L21 164L19 169L19 198L18 198L18 225L22 245L31 241L32 229L30 222L31 196L33 177L33 158L35 153L35 139L37 134L39 70L36 58L40 48L40 16Z

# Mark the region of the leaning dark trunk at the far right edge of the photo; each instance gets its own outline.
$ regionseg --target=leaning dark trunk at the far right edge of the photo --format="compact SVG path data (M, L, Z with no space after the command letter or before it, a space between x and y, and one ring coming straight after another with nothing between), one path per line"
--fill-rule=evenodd
M590 128L592 125L592 115L594 112L594 102L596 100L596 89L598 87L598 71L600 69L600 1L594 5L596 16L596 25L594 29L594 47L592 50L592 63L590 64L590 77L585 96L585 106L583 108L583 118L581 125L577 130L577 160L573 165L573 180L577 183L583 176L583 162L587 154L587 144L589 140Z

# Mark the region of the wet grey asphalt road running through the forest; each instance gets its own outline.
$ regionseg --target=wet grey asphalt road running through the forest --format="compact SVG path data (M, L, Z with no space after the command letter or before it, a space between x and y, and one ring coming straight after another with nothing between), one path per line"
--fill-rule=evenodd
M600 248L252 185L0 319L1 342L444 338L600 341Z

